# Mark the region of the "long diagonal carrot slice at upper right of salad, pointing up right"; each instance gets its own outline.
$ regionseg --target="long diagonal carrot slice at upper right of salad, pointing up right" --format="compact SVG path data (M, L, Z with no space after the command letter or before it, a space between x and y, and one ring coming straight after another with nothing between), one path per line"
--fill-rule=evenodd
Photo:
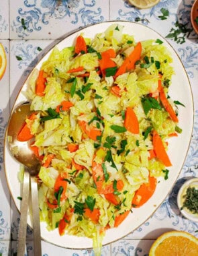
M134 48L134 51L132 51L132 53L123 61L122 65L119 67L119 69L115 73L115 77L122 75L123 73L126 73L131 69L135 69L136 61L140 59L141 53L142 53L142 44L141 42L138 42L138 44L136 44Z

